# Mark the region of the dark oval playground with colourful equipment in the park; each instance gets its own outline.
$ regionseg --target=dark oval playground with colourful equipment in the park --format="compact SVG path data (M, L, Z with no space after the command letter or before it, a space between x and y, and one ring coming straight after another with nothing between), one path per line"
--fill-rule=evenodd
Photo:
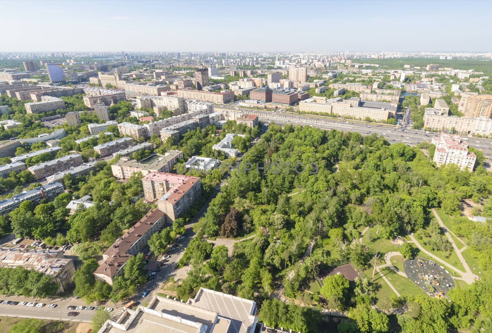
M431 297L446 297L448 290L455 287L453 278L446 268L432 260L407 259L403 262L403 270L406 276L423 290L426 290L427 285L434 287L435 293L428 292Z

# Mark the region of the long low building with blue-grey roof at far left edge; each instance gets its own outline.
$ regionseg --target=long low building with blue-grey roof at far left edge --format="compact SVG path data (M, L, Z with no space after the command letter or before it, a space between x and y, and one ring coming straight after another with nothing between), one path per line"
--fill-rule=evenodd
M49 201L53 201L63 192L63 185L57 182L42 185L30 191L24 191L12 198L1 200L0 215L7 215L12 210L18 208L21 203L26 200L31 200L33 205L36 206L42 199L48 198Z

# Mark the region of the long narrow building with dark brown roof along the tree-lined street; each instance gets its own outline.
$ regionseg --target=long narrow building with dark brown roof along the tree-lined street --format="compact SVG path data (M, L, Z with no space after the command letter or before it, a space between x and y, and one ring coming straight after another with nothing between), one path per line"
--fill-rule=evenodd
M152 234L159 232L165 222L162 211L149 211L102 254L104 262L94 271L95 279L113 285L114 278L123 274L128 259L142 252Z

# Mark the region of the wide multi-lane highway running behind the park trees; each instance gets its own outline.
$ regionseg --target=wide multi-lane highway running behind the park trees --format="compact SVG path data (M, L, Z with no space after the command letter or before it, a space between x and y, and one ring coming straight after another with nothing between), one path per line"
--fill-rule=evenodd
M215 110L229 110L236 112L244 112L249 114L256 114L259 120L264 123L274 122L277 125L292 124L292 125L310 125L322 130L335 129L343 132L358 132L364 135L371 135L376 133L383 135L389 142L411 142L409 145L415 146L416 144L424 141L431 141L433 135L437 133L425 133L425 131L411 130L411 129L395 129L393 125L376 125L374 123L364 123L360 121L353 121L347 119L343 121L339 118L323 118L316 115L301 115L292 114L287 112L274 112L263 111L248 108L235 108L229 106L217 106ZM408 119L406 119L408 121ZM406 132L406 133L405 133ZM481 137L462 136L468 139L466 143L468 146L482 150L484 156L492 158L492 140Z

